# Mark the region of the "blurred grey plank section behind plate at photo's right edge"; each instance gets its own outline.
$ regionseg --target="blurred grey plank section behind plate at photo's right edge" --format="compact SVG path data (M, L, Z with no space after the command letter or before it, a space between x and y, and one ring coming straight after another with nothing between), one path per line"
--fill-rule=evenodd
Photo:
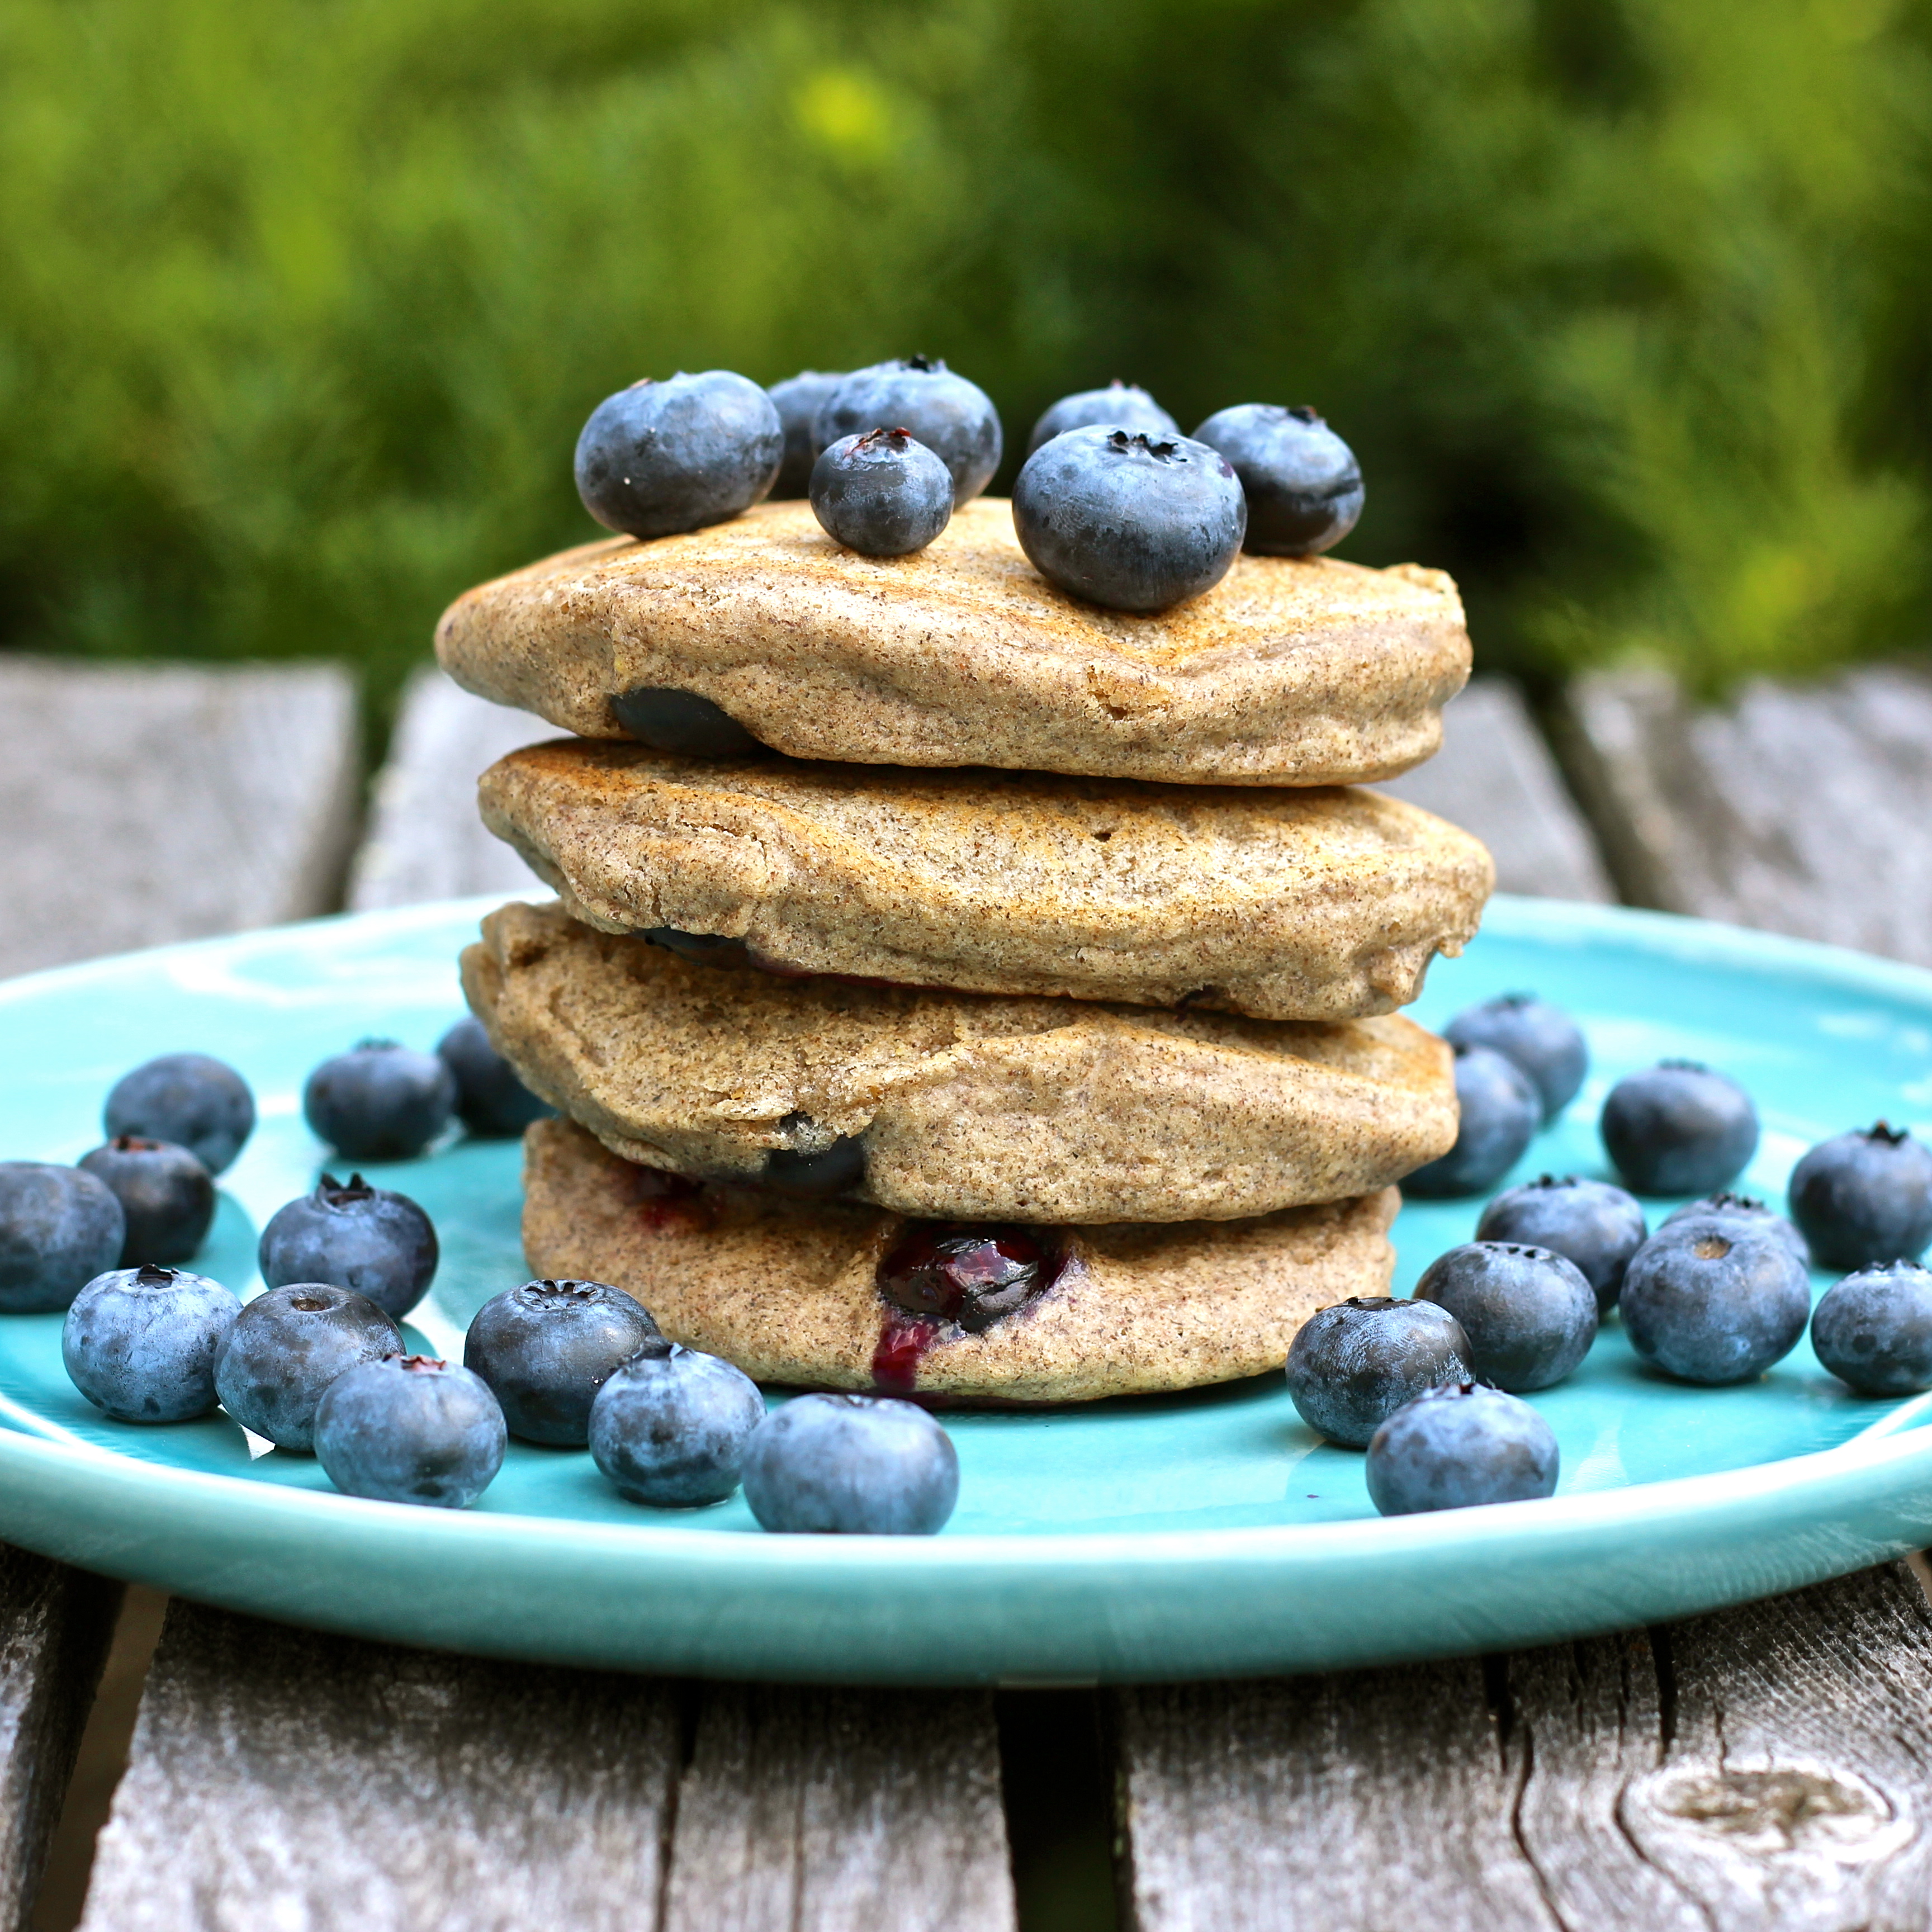
M1932 964L1932 678L1596 674L1559 744L1625 898Z

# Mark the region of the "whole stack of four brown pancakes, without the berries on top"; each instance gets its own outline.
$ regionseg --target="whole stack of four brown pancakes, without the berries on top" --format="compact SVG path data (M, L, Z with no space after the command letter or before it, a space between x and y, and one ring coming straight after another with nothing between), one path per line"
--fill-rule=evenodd
M464 954L562 1113L537 1273L761 1381L960 1403L1256 1374L1385 1293L1393 1182L1457 1132L1395 1009L1493 875L1343 786L1439 742L1445 576L1240 556L1126 616L997 498L906 558L767 504L485 583L437 647L578 734L483 775L560 904Z

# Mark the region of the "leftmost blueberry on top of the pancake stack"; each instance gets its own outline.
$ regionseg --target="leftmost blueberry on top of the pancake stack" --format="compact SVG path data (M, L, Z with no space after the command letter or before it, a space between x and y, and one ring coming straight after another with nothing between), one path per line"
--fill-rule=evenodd
M755 383L682 369L605 396L578 437L578 495L605 529L670 537L761 502L784 458L784 425Z

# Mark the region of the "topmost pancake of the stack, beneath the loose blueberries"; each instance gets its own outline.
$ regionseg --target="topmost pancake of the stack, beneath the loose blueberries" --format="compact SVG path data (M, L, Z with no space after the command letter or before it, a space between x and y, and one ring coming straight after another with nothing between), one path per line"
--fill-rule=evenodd
M1165 784L1354 784L1441 742L1468 634L1439 570L1248 556L1153 616L1066 597L1005 498L914 556L860 556L806 502L614 537L466 591L458 684L585 738L611 699L692 692L794 757L999 765Z

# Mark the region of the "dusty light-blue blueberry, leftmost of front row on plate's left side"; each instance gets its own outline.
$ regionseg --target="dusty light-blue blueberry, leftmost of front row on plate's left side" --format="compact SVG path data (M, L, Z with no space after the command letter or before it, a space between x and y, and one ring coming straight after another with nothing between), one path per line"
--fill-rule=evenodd
M60 1358L116 1422L185 1422L214 1406L214 1356L240 1312L207 1275L116 1267L73 1296Z

